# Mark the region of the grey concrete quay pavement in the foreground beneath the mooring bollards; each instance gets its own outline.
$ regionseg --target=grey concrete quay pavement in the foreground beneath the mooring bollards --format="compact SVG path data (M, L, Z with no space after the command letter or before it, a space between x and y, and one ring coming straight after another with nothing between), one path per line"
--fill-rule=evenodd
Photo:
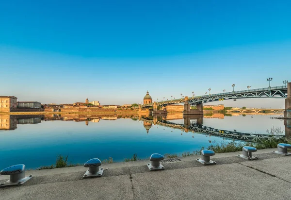
M31 170L24 185L0 188L0 200L289 200L291 156L274 150L258 150L252 161L242 152L216 154L211 166L200 156L166 159L163 171L149 171L147 160L102 164L103 176L88 179L85 167Z

